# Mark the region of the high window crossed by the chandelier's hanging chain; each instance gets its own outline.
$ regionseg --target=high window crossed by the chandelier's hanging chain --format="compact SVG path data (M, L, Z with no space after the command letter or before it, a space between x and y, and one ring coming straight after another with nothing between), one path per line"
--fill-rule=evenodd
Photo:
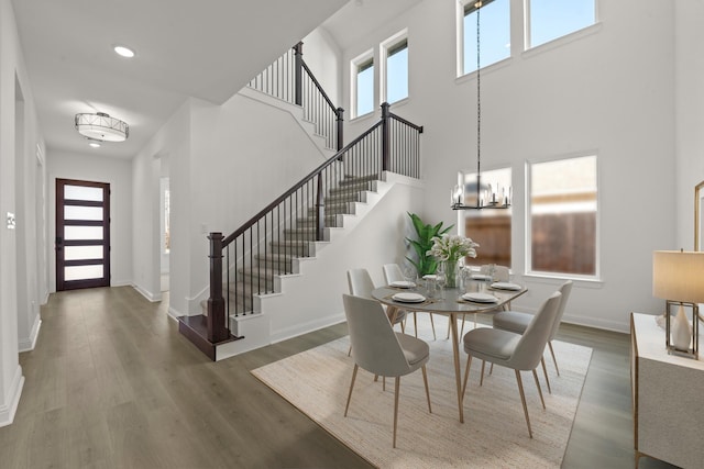
M481 67L495 64L510 56L509 0L484 0L480 13ZM470 0L463 9L462 72L476 70L476 7Z

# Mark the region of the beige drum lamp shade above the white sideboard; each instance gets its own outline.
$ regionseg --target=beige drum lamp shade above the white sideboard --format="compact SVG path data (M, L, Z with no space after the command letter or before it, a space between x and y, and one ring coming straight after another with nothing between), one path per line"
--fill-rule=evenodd
M704 303L704 253L652 253L652 295L685 303Z

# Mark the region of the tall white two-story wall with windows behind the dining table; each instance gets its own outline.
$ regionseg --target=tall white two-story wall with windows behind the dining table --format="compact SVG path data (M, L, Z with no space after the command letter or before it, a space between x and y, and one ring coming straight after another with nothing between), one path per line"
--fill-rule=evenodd
M598 7L600 24L578 37L483 70L482 166L512 167L512 267L530 289L520 306L535 310L560 280L524 276L526 161L598 155L601 279L576 282L565 319L625 332L630 311L661 309L651 253L676 246L674 10L653 0ZM448 199L458 171L476 166L476 82L455 78L454 19L455 2L426 0L343 52L349 107L349 62L408 27L409 100L392 111L425 126L420 214L447 224L457 223ZM521 37L520 21L513 29ZM691 44L694 54L701 41ZM351 123L350 135L362 125Z

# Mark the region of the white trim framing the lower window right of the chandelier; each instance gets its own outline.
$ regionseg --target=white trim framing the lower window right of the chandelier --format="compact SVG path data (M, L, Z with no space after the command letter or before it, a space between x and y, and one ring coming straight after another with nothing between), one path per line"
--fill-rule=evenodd
M580 275L580 273L570 273L570 272L550 272L543 270L534 270L532 268L532 206L531 206L531 175L532 175L532 165L538 165L542 163L551 163L551 161L561 161L573 158L584 158L593 156L596 158L596 220L595 220L595 239L594 239L594 275ZM525 200L526 200L526 210L525 210L525 276L534 277L534 278L560 278L560 279L571 279L578 281L586 281L586 282L601 282L602 281L602 268L601 268L601 258L602 258L602 243L601 243L601 210L602 210L602 191L601 188L601 165L600 165L600 156L597 150L585 150L580 153L571 153L571 154L561 154L554 155L544 158L535 158L535 159L526 159L525 163Z

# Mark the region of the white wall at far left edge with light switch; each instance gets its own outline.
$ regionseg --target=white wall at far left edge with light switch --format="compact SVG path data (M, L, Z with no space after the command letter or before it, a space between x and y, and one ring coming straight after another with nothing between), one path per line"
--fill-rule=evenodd
M43 177L37 145L43 148L12 4L0 0L0 426L14 418L24 384L20 344L31 346L43 299L36 280L43 266L34 253L42 237L35 227L41 204L34 181ZM8 212L19 230L6 227Z

